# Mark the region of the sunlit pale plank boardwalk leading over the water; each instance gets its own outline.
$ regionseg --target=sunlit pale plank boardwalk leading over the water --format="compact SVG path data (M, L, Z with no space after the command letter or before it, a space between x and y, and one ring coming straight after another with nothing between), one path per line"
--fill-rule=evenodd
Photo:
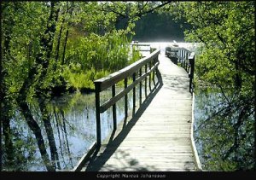
M188 73L159 55L161 83L136 117L81 171L196 171Z

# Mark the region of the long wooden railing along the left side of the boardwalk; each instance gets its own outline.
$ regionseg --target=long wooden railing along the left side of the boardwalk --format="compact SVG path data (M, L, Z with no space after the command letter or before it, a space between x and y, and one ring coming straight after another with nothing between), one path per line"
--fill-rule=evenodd
M107 77L97 79L94 81L95 90L96 90L96 143L97 147L100 147L102 144L102 135L101 135L101 113L104 113L108 110L109 107L113 107L113 130L116 130L116 102L118 102L122 97L125 96L125 117L128 116L128 96L127 94L133 90L133 109L136 107L136 85L140 84L139 90L139 99L140 104L142 103L142 81L145 79L145 94L147 96L147 77L149 76L148 84L149 89L151 90L151 74L157 73L157 67L159 66L158 55L160 54L160 49L154 50L153 53L147 57L143 57L139 61L136 61L125 67L118 72L112 73ZM145 67L143 73L142 68ZM131 78L133 82L127 84L128 78ZM125 89L121 90L118 94L115 93L115 84L119 81L125 81ZM106 90L112 87L112 98L107 102L104 102L102 105L100 103L100 93L102 90Z

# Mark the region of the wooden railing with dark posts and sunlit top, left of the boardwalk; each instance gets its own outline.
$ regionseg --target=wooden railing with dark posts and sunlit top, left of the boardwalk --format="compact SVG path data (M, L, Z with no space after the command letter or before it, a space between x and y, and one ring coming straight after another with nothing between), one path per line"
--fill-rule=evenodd
M160 49L155 51L154 55L159 55ZM102 128L101 128L101 113L105 112L109 109L109 107L113 107L113 129L117 129L117 112L116 112L116 106L117 102L125 96L125 117L128 116L128 93L133 89L133 112L132 116L136 113L136 85L138 83L141 83L140 86L140 97L142 98L142 86L143 86L143 78L145 79L145 92L146 92L146 98L147 98L147 75L143 74L143 66L145 66L145 73L148 71L147 63L151 61L150 67L152 68L153 61L158 61L158 57L153 57L154 55L151 55L150 57L147 57L145 59L142 59L138 64L132 64L130 67L125 67L124 69L120 70L119 72L115 73L114 75L109 75L108 77L97 79L94 81L95 84L95 99L96 99L96 147L100 148L102 145ZM155 62L154 62L155 63ZM158 62L159 63L159 62ZM159 71L157 67L154 67L154 71L156 71L157 78L160 77ZM151 69L149 71L151 72ZM140 76L140 78L137 78L137 75ZM153 74L154 75L154 74ZM143 76L143 78L142 78ZM128 79L132 77L133 83L128 86ZM125 80L125 90L120 91L118 94L116 94L115 85L121 81ZM150 80L150 79L149 79ZM150 85L150 84L149 84ZM108 100L108 102L104 102L101 105L101 92L102 90L107 90L108 88L112 87L112 98ZM140 103L142 103L142 100L140 100Z

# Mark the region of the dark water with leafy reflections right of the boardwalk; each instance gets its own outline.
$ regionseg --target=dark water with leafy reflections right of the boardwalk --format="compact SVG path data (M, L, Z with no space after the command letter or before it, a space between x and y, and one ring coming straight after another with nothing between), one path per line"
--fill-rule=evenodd
M213 113L227 110L218 115ZM235 135L237 107L230 107L222 93L213 90L197 90L195 93L195 145L203 170L237 171L253 168L254 131L253 115L242 119ZM235 139L236 148L232 148Z

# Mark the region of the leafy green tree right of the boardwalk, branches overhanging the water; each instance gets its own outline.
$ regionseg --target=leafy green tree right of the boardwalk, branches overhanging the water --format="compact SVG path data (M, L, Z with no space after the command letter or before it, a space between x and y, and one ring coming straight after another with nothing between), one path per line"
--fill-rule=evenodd
M205 165L217 171L255 169L255 3L179 2L171 9L191 26L186 39L201 43L197 79L220 92L201 125Z

